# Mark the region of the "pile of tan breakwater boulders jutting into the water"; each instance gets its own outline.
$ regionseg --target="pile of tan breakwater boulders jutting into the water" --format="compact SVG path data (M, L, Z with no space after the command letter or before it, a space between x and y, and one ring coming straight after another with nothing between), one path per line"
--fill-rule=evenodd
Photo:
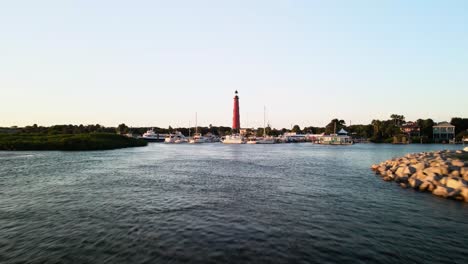
M468 202L467 155L464 150L422 152L374 164L371 168L384 181L394 181L403 188Z

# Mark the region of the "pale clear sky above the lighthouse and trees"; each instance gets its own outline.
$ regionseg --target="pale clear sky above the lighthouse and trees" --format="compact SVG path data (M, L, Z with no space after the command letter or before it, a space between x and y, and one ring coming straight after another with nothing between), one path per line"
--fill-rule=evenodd
M0 126L468 117L468 1L1 1Z

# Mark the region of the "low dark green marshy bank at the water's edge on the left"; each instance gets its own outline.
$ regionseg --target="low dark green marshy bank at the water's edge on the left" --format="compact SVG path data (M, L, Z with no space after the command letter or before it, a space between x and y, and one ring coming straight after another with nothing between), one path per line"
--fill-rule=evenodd
M117 134L0 134L0 150L107 150L146 146L141 139Z

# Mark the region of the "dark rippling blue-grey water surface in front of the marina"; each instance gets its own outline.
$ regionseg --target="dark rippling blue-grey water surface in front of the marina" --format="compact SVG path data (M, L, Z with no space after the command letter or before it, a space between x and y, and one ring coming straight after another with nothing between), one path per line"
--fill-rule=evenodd
M0 152L0 263L468 263L468 204L369 169L459 147Z

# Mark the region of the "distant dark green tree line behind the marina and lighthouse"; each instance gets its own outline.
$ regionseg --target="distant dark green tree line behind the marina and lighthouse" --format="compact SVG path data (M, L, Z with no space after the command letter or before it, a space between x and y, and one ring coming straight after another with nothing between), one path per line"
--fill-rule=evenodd
M298 134L332 134L338 132L341 129L347 130L350 135L355 138L369 139L372 142L391 142L393 137L405 135L402 131L402 127L407 123L406 118L403 115L392 114L387 120L374 119L370 124L367 125L350 125L347 126L346 122L342 119L335 118L331 120L325 127L308 126L301 128L299 125L294 125L291 129L282 128L276 129L271 126L267 126L266 134L270 136L279 136L287 132L295 132ZM432 127L436 123L432 119L418 119L415 121L420 131L415 136L413 135L413 142L432 142L433 130ZM455 137L457 140L468 136L468 118L454 117L450 123L455 126ZM116 127L105 127L99 124L95 125L55 125L50 127L38 126L36 124L32 126L26 126L22 128L10 127L0 128L0 134L4 133L19 133L19 134L47 134L47 135L60 135L60 134L87 134L87 133L118 133L127 134L133 133L141 135L147 130L153 129L155 133L169 134L175 131L180 131L184 135L193 135L195 133L194 127L179 127L168 128L161 127L128 127L125 124L120 124ZM261 136L263 135L263 127L257 129L248 130L252 135ZM213 126L198 127L198 133L207 134L212 133L217 136L224 136L231 134L232 130L230 127L225 126Z

